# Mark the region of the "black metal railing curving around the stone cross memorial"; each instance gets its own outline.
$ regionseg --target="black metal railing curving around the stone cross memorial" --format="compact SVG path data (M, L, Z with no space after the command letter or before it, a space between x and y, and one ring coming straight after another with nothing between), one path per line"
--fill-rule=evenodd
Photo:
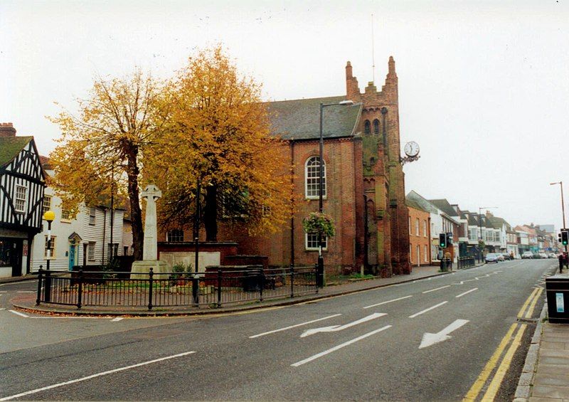
M36 304L100 307L221 307L317 293L317 268L149 273L41 270Z

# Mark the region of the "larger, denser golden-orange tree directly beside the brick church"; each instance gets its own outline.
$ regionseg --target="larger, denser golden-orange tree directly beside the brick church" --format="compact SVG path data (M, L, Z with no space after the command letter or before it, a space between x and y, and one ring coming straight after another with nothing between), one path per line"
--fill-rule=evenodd
M270 136L260 85L240 77L218 46L188 60L166 99L168 134L151 157L155 180L163 183L161 225L193 226L198 187L208 241L218 239L222 220L250 233L282 225L290 214L290 177L279 171L284 148Z

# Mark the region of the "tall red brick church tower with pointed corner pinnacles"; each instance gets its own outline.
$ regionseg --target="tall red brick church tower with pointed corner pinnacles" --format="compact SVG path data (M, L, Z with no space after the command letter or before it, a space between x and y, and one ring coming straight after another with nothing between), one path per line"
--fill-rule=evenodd
M405 205L405 176L400 163L398 78L389 58L381 91L373 81L363 93L346 65L346 99L363 104L363 191L367 209L367 261L381 275L408 274L409 223Z

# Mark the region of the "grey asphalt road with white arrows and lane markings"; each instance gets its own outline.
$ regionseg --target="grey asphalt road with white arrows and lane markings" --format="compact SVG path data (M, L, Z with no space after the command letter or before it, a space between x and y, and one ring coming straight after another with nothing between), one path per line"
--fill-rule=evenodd
M22 317L6 299L33 284L4 286L0 401L510 401L556 267L516 260L176 319Z

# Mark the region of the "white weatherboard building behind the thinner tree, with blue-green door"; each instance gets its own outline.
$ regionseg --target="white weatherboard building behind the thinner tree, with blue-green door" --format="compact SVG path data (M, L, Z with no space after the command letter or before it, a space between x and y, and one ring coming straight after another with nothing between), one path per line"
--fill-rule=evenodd
M46 173L53 174L53 170L46 170ZM72 219L68 211L62 210L61 199L53 194L52 188L47 187L43 213L48 210L55 213L51 223L50 270L71 270L73 265L105 264L111 248L114 248L113 255L124 254L124 210L115 209L111 213L110 208L105 206L80 206L80 212ZM47 239L48 223L43 220L43 231L34 238L31 250L32 272L37 272L40 265L46 269Z

